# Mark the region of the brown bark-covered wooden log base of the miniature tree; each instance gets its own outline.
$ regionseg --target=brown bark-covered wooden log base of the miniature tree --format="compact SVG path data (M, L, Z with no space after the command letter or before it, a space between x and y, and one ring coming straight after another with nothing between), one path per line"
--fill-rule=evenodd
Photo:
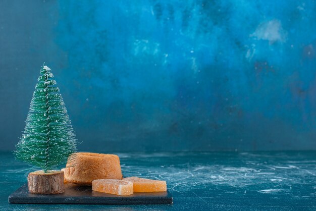
M64 172L43 171L31 172L27 177L27 184L30 193L35 194L57 194L64 190Z

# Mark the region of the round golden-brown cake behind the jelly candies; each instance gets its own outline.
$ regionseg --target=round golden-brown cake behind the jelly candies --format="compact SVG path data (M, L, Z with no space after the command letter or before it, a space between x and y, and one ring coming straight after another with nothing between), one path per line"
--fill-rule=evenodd
M122 179L119 156L116 154L99 154L77 152L68 159L64 170L67 182L79 185L92 185L98 179Z

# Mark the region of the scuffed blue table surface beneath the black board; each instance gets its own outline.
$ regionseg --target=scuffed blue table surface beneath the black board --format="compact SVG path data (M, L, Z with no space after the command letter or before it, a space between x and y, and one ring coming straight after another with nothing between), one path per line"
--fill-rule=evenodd
M0 152L0 210L316 210L314 151L118 155L125 177L166 180L174 204L9 204L28 166Z

